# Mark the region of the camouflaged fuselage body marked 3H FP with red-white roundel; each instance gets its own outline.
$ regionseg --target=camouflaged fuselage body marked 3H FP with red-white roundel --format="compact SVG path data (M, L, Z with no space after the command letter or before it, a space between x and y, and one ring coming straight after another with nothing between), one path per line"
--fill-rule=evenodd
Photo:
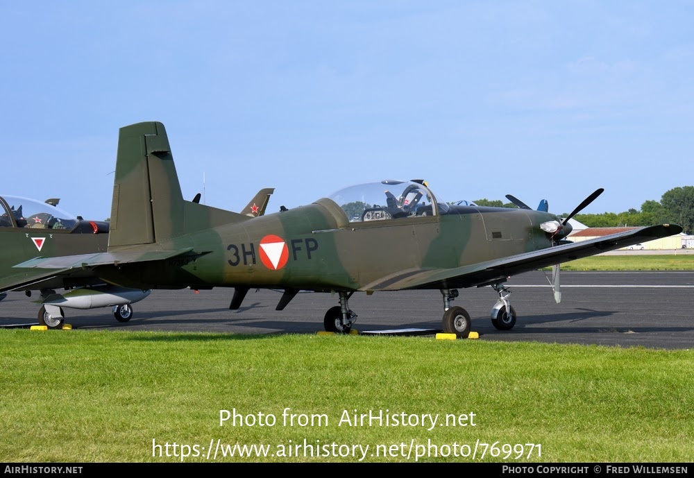
M222 225L160 244L203 254L104 270L105 280L138 287L292 287L369 290L389 274L453 268L552 246L532 210L455 207L448 214L348 223L337 204L312 205ZM183 285L185 284L185 286ZM432 287L439 288L439 287Z

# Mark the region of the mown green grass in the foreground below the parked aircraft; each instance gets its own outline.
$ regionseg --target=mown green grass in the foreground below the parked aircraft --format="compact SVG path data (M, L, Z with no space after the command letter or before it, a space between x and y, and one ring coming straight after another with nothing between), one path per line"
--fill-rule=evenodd
M407 454L411 443L423 450L429 441L457 450L477 441L497 443L499 450L505 443L541 445L541 456L535 448L530 459L528 448L518 460L493 457L491 448L483 459L513 463L688 462L694 456L691 350L423 337L28 330L0 330L0 347L0 461L181 460L153 456L153 440L164 455L166 443L171 454L174 443L179 451L182 444L198 444L198 452L206 454L210 441L216 446L217 440L271 445L271 452L304 440L328 445L331 453L332 443L369 445L364 461L396 462L414 461L416 446L409 459L400 452ZM327 422L284 425L286 408L296 415L325 416ZM229 420L220 426L220 410L233 409L256 420L260 413L272 415L276 423L233 426ZM439 421L446 414L475 413L475 426L339 426L345 411L355 409L438 413ZM391 451L398 456L371 456L377 445L396 445ZM218 456L217 461L354 462L358 457L301 453ZM419 461L473 459L451 454Z

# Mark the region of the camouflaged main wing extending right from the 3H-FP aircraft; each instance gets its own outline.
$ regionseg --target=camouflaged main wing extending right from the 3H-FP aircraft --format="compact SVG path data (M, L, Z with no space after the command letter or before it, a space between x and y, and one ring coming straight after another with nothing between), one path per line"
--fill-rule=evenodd
M459 289L464 287L482 286L498 280L504 280L511 275L534 271L539 268L573 261L581 257L589 257L608 250L615 250L651 241L659 237L679 234L679 225L652 225L618 234L589 239L588 241L562 244L531 253L501 257L486 262L460 266L456 268L416 268L400 271L396 274L380 278L371 284L366 284L360 290L364 291L396 291L400 289Z

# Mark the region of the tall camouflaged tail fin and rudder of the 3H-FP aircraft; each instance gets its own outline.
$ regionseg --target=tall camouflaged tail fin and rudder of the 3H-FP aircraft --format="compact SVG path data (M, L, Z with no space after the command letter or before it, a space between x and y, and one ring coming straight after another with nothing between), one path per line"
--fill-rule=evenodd
M119 130L109 248L151 244L184 228L183 195L169 138L159 122Z

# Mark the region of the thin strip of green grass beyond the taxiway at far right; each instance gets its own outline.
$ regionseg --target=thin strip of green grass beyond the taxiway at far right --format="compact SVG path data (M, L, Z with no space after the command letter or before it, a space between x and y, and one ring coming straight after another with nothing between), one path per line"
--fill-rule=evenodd
M693 271L694 254L594 255L561 264L564 271Z

